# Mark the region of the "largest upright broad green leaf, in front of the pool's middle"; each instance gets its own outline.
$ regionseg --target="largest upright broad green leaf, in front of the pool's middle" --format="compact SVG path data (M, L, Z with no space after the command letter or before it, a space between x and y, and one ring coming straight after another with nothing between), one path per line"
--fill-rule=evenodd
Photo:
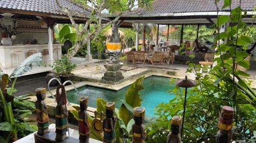
M124 125L127 126L133 117L133 108L141 106L139 91L143 90L142 82L144 76L138 78L125 94L125 101L120 100L123 104L119 109L119 117L123 120Z

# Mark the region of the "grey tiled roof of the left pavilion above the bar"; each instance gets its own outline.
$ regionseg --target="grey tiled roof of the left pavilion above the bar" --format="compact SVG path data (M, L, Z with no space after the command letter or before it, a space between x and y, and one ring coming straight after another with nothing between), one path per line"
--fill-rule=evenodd
M85 10L77 3L69 0L59 0L60 4L68 8L74 17L86 18L91 15L89 10ZM55 0L1 0L0 13L17 13L38 16L65 16Z

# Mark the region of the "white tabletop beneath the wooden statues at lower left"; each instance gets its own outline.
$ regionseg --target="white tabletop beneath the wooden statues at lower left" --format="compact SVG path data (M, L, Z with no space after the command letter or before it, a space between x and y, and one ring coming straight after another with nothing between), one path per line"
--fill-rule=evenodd
M54 127L54 128L53 128ZM55 124L51 124L49 126L49 130L54 130L55 129ZM74 129L69 129L70 130L70 136L74 137L74 138L79 138L79 133L77 130L74 130ZM35 138L34 138L34 133L31 133L23 138L20 138L19 140L13 142L13 143L35 143ZM75 143L75 142L74 142ZM93 139L93 138L90 138L90 143L102 143L101 141L99 140L96 140L96 139Z

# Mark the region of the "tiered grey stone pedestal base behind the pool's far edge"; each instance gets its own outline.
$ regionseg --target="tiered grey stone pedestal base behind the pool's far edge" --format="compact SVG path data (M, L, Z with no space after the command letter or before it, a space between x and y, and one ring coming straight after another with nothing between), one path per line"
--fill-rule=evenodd
M104 67L106 68L106 72L104 73L104 76L102 77L102 80L106 81L119 81L123 79L123 75L120 71L121 67L123 64L121 63L116 63L116 64L109 64L106 63Z

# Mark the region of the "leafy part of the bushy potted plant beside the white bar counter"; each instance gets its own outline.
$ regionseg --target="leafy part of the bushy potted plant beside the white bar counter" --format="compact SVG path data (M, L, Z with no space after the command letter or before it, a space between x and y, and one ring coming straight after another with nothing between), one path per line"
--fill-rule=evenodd
M57 75L69 75L76 68L66 55L62 55L61 59L55 59L51 66L57 72Z

